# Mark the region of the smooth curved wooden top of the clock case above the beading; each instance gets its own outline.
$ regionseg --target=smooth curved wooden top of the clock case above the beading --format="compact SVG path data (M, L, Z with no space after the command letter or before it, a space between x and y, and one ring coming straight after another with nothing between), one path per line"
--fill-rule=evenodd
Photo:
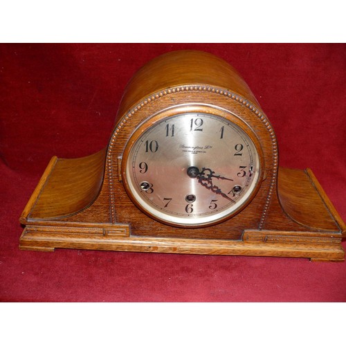
M203 51L173 51L154 58L135 73L127 84L117 117L135 109L139 100L151 102L160 93L179 92L182 87L191 86L206 86L208 90L217 86L242 95L260 108L248 84L225 60Z

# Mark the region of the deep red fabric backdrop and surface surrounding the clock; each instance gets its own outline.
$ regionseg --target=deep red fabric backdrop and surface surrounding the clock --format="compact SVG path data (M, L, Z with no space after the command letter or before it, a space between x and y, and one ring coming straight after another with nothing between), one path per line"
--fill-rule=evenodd
M275 129L280 165L310 167L346 219L345 44L2 44L1 301L346 301L346 262L19 251L19 215L51 156L105 147L131 75L186 48L219 55L241 73Z

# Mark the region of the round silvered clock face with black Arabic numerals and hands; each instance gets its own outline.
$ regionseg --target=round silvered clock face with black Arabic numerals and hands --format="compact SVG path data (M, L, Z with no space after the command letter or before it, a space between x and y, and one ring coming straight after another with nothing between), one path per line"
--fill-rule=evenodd
M253 198L261 164L244 122L184 112L148 123L127 143L122 168L138 208L174 226L205 226Z

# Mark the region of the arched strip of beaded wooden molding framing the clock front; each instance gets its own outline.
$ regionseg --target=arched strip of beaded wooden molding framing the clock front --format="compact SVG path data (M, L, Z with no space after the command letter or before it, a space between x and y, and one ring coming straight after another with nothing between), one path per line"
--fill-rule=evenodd
M271 143L273 148L273 175L271 177L271 185L269 186L268 195L266 197L266 203L264 204L264 210L262 212L262 217L260 219L260 224L258 226L259 230L263 229L264 221L266 220L266 215L269 209L269 204L271 203L271 198L273 197L273 192L275 189L275 181L277 178L277 165L278 165L278 155L277 155L277 140L275 138L273 127L271 126L270 122L268 122L268 119L266 116L253 104L251 104L250 101L246 100L246 98L243 98L240 95L237 95L236 93L232 93L230 91L217 88L215 86L203 86L203 85L185 85L185 86L176 86L174 88L168 88L164 89L162 91L158 91L156 93L153 93L152 95L149 95L147 98L143 99L140 103L137 104L136 107L129 110L125 116L121 118L121 120L118 122L118 126L113 131L113 135L111 136L111 140L109 142L108 150L107 150L107 165L106 174L108 175L108 181L109 181L109 202L111 205L111 223L113 224L116 219L116 210L114 206L114 188L113 188L113 179L115 175L113 174L113 160L112 160L112 152L113 147L116 143L116 139L119 136L119 132L122 129L122 127L125 126L125 124L131 120L131 118L136 114L137 111L139 111L141 108L145 107L146 104L153 102L157 100L158 98L162 98L165 95L170 95L172 93L179 93L182 91L205 91L209 93L217 93L219 95L224 95L226 98L230 98L231 100L235 100L235 102L239 102L240 104L243 104L245 107L253 111L257 118L259 118L265 125L266 129L268 130L270 136L271 136Z

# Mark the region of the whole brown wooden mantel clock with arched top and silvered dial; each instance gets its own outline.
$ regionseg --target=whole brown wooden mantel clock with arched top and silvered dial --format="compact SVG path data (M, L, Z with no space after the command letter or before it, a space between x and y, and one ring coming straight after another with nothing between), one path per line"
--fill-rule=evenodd
M140 69L109 145L54 156L20 221L22 250L344 260L345 224L311 170L278 166L273 127L246 82L201 51Z

